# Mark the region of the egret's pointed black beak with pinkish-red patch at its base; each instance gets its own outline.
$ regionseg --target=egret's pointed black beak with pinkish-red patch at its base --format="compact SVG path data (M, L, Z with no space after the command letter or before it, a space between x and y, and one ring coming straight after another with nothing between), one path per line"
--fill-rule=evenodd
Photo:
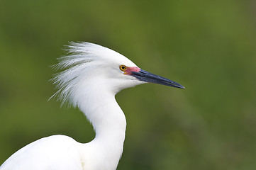
M184 86L182 86L181 84L178 84L164 77L157 76L138 67L128 67L126 70L126 74L130 74L130 76L133 76L140 81L185 89Z

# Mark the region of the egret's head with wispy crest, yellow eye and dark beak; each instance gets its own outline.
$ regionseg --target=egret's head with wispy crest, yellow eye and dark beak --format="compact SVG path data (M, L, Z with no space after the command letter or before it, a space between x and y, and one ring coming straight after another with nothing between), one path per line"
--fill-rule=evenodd
M140 69L123 55L89 42L70 42L68 55L60 57L55 68L61 70L52 80L62 103L77 105L76 96L84 89L107 90L113 94L145 83L156 83L184 89L184 86ZM54 96L55 96L54 95Z

